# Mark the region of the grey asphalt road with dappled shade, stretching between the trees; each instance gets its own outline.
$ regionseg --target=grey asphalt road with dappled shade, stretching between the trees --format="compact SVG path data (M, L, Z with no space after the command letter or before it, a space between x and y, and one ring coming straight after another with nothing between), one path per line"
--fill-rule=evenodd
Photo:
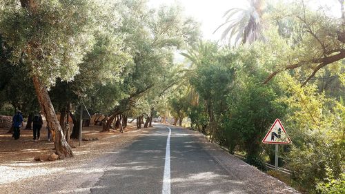
M170 146L169 129L157 126L119 153L91 193L255 193L202 148L197 133L170 128Z

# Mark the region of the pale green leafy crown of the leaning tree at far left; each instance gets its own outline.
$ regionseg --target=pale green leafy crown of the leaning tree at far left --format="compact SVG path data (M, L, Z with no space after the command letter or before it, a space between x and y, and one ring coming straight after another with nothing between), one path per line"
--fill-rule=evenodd
M12 64L23 63L47 85L70 80L90 40L92 1L40 1L34 10L1 1L1 35L12 48Z

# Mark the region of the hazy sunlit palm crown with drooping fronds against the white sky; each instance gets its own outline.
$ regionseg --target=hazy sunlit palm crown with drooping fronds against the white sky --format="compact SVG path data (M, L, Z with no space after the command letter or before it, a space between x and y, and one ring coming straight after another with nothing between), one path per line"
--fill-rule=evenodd
M219 26L227 26L221 35L221 39L228 36L235 37L235 43L242 40L242 43L253 43L262 37L262 14L264 13L264 0L248 0L249 6L246 9L232 8L224 13L226 21ZM235 17L237 16L237 17ZM234 18L235 17L235 18Z

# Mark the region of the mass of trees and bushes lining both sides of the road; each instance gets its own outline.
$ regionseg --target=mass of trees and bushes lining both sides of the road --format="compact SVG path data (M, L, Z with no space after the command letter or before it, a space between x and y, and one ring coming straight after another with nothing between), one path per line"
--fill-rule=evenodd
M337 15L308 1L250 0L224 14L220 44L202 39L179 6L3 0L0 115L20 109L31 128L41 110L61 159L73 155L66 137L79 137L81 104L103 115L103 131L123 132L128 117L137 128L188 117L263 171L275 152L262 139L279 118L293 142L279 147L290 184L344 193L345 10L334 3ZM177 52L184 62L174 62Z

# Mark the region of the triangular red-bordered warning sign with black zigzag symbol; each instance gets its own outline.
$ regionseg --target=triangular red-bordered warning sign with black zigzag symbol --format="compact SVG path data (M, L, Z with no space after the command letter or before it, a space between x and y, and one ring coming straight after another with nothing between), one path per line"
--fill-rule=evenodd
M265 138L262 139L264 144L291 144L291 139L288 137L284 126L279 119L275 119L275 122L268 130Z

